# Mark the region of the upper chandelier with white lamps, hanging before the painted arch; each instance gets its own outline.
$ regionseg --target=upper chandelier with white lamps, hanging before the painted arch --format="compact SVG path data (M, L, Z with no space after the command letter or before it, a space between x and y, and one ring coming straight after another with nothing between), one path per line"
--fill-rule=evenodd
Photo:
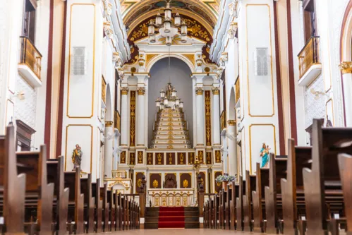
M159 33L162 37L165 38L166 45L171 46L172 40L176 35L181 35L181 42L187 42L187 25L186 22L183 20L181 23L181 16L176 13L174 18L171 15L171 8L170 2L171 0L166 1L166 8L164 8L164 18L160 13L157 14L155 18L155 23L150 21L148 26L148 35L149 35L149 42L154 43L155 40L155 28L159 29ZM178 32L178 27L181 27L181 32Z

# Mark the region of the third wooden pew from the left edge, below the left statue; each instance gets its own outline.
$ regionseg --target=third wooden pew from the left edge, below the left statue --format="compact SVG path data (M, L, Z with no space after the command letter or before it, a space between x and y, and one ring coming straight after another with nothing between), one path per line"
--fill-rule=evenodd
M68 215L68 194L69 188L64 188L63 157L47 160L47 183L54 183L54 197L56 207L54 207L54 223L57 235L66 234L66 222Z

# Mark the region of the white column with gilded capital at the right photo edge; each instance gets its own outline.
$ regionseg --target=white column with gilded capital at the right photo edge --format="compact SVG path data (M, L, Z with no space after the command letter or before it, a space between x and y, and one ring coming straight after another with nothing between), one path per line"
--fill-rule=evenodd
M352 62L340 64L342 79L344 80L344 100L346 113L346 126L352 126Z

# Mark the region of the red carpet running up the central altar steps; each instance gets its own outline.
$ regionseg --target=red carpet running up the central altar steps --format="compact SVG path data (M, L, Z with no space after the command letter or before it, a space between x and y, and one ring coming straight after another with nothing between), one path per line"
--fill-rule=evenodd
M158 228L184 228L185 212L183 207L159 207Z

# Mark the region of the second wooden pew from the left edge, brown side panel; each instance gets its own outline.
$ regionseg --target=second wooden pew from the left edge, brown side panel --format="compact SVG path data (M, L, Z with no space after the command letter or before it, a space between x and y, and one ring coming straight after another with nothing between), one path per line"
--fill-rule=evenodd
M34 204L30 210L36 212L37 222L30 222L28 215L28 232L32 234L35 229L36 234L51 235L54 183L47 183L46 147L40 146L40 152L17 152L16 158L18 173L26 174L26 202L30 200Z

